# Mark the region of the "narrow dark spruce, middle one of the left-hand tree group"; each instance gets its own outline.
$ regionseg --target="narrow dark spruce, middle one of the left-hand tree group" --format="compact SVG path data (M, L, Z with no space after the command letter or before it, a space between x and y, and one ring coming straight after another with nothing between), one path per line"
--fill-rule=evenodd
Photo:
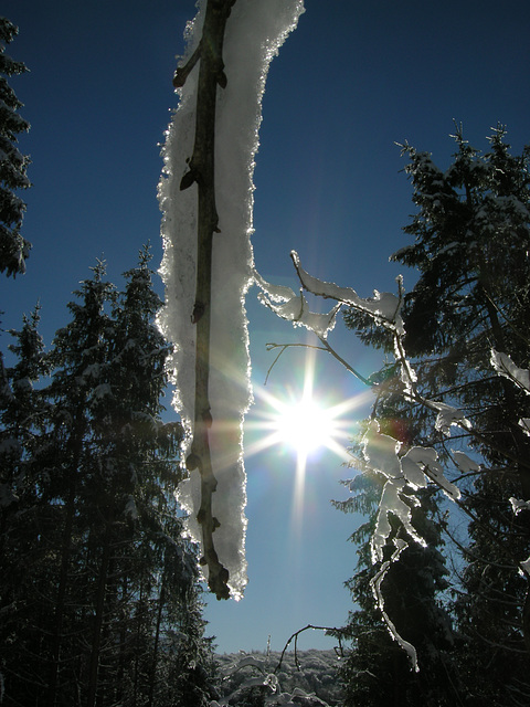
M104 386L102 372L108 358L108 331L112 323L108 305L115 296L114 286L104 281L105 266L93 268L94 277L81 283L71 302L73 318L60 329L53 341L50 361L52 382L47 389L51 401L47 455L41 463L49 469L47 502L55 510L53 534L49 542L57 553L54 582L49 588L50 614L50 705L61 698L75 699L75 693L86 679L82 671L86 656L82 645L70 636L78 634L86 642L86 624L93 623L94 580L87 567L91 526L102 526L97 499L91 489L97 483L100 454L93 444L94 398ZM74 572L75 568L75 572ZM47 683L47 680L46 680ZM68 688L66 688L66 685ZM68 694L70 690L73 690Z

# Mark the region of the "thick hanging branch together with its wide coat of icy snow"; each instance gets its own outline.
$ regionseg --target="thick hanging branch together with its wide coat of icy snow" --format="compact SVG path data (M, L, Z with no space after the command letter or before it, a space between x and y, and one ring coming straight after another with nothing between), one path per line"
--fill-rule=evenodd
M190 472L178 497L218 598L246 584L243 416L252 399L244 298L253 279L254 157L272 59L303 0L200 0L173 85L159 183L173 404Z

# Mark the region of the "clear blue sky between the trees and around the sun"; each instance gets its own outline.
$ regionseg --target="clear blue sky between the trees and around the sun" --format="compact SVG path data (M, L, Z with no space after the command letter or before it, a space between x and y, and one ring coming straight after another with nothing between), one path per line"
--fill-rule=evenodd
M244 0L237 0L243 2ZM134 265L150 240L161 260L156 187L158 144L170 109L176 54L193 0L4 0L20 27L9 53L31 70L12 82L25 104L31 154L23 233L33 242L28 273L0 281L3 327L42 305L42 334L67 321L66 303L96 257L109 278ZM497 122L520 150L530 143L530 4L505 0L306 0L306 13L273 61L264 98L255 171L254 251L269 281L295 284L288 253L324 279L360 295L392 289L391 252L413 211L394 141L407 139L441 166L453 151L453 118L486 148ZM405 275L405 285L413 276ZM161 289L160 289L161 292ZM295 340L248 298L254 386L273 356L266 341ZM1 347L6 349L7 335ZM379 367L344 331L331 335L363 373ZM286 354L267 389L299 392L305 354ZM332 400L362 389L326 358L316 386ZM259 402L251 420L259 419ZM354 413L351 425L354 428ZM296 460L282 447L247 460L248 574L245 599L209 602L209 632L221 651L280 648L307 623L340 625L351 606L342 582L352 574L347 542L359 519L330 507L347 475L330 454L314 458L304 511L293 515ZM300 520L301 518L301 520ZM301 525L300 525L301 523ZM332 647L311 633L306 647Z

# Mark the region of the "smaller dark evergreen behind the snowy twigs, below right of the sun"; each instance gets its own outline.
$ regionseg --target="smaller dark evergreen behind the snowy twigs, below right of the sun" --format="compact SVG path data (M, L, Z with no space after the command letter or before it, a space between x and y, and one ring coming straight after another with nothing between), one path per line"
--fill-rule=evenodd
M406 445L411 431L393 412L391 401L380 399L373 415L378 416L385 434ZM350 612L348 625L341 631L342 636L352 642L340 669L344 707L458 704L457 688L451 679L454 635L442 601L448 587L448 570L442 555L436 489L416 492L421 505L411 507L414 527L427 546L409 542L399 561L390 564L381 584L384 611L402 639L416 650L420 665L416 673L411 669L406 653L390 635L372 592L371 582L380 572L382 562L372 563L370 539L384 481L360 461L360 451L356 456L359 458L356 465L363 473L343 482L352 496L346 502L333 502L344 513L360 513L368 518L350 537L358 547L359 560L357 572L347 585L359 609ZM383 561L390 560L395 550L392 541L403 535L398 519L391 523L393 530Z

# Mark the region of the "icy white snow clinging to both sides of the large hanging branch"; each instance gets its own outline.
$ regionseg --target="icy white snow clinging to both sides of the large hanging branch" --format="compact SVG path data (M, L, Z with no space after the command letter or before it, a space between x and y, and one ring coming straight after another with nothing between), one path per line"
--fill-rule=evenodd
M205 12L199 12L186 32L183 65L198 46ZM246 584L244 538L246 519L242 422L252 400L248 333L244 297L253 277L251 244L254 157L258 146L261 102L268 65L304 12L303 0L239 0L232 8L224 40L227 86L218 89L215 138L215 198L219 228L212 273L212 328L210 403L213 425L210 446L219 485L213 515L220 520L214 541L220 562L229 570L232 597L242 597ZM179 107L166 134L165 167L159 184L163 212L161 233L165 254L160 274L166 285L166 306L159 324L176 345L171 360L176 393L173 404L188 433L194 419L195 327L191 313L195 294L197 187L180 191L192 155L199 65L178 91ZM184 449L184 455L187 449ZM190 513L189 532L200 541L200 476L192 472L178 492Z

